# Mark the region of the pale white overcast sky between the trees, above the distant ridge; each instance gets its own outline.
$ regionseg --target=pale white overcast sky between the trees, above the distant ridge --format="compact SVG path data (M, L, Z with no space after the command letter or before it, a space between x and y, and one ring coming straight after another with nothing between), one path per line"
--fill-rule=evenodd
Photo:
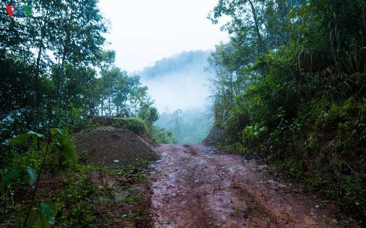
M116 50L116 65L128 72L184 50L214 49L227 32L207 15L218 0L100 0L111 21L106 48Z

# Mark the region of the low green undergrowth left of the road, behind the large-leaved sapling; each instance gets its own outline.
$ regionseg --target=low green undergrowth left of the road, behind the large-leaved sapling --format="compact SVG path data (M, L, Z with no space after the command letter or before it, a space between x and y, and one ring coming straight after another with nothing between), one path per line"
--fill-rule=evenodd
M17 149L17 146L13 147ZM43 149L43 143L30 146L25 153L10 159L12 162L7 169L1 169L0 174L4 178L13 166L23 164L34 164L38 168ZM147 177L147 161L136 158L125 166L103 167L59 159L57 151L51 154L46 159L37 200L55 202L55 226L100 227L106 223L128 226L145 222L146 218L136 204L140 202L139 185ZM18 209L29 201L32 190L26 179L18 176L1 189L0 220L3 224L22 225L25 215Z

